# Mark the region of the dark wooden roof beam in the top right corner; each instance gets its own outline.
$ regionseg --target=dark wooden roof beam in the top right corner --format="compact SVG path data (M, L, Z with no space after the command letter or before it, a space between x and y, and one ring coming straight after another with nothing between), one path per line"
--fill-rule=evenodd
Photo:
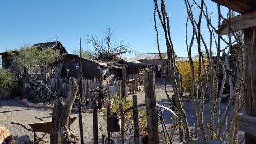
M256 10L256 1L254 0L212 0L222 6L225 6L238 13L246 13Z

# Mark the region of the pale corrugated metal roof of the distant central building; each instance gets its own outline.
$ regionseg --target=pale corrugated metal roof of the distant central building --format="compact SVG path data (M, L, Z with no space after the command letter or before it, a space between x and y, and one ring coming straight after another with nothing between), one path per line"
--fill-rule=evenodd
M168 59L167 53L161 53L163 59ZM159 53L145 53L135 54L133 59L136 60L161 60ZM193 57L193 60L197 60L197 57ZM175 61L189 61L188 57L176 57Z

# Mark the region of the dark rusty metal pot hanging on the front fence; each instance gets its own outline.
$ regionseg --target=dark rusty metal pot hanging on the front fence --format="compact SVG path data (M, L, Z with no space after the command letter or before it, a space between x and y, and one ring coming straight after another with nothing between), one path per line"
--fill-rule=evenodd
M119 132L121 130L121 116L118 113L109 114L108 132Z

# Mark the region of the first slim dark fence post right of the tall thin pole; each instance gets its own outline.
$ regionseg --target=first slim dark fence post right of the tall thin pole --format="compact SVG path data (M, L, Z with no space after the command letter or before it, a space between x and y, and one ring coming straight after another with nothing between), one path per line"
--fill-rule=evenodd
M94 93L95 94L95 93ZM98 115L97 115L97 103L96 103L96 95L94 95L93 99L93 143L98 144Z

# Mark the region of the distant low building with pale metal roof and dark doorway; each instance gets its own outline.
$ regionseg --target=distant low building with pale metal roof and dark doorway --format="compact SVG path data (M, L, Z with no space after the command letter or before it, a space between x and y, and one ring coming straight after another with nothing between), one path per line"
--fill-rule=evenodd
M155 77L156 78L164 78L164 71L166 77L168 77L170 71L167 66L167 59L168 55L167 53L161 53L161 56L164 60L164 66L163 66L163 61L159 55L159 53L142 53L142 54L136 54L133 59L138 60L142 63L151 65L151 69L155 72ZM189 61L188 57L176 57L175 61Z

